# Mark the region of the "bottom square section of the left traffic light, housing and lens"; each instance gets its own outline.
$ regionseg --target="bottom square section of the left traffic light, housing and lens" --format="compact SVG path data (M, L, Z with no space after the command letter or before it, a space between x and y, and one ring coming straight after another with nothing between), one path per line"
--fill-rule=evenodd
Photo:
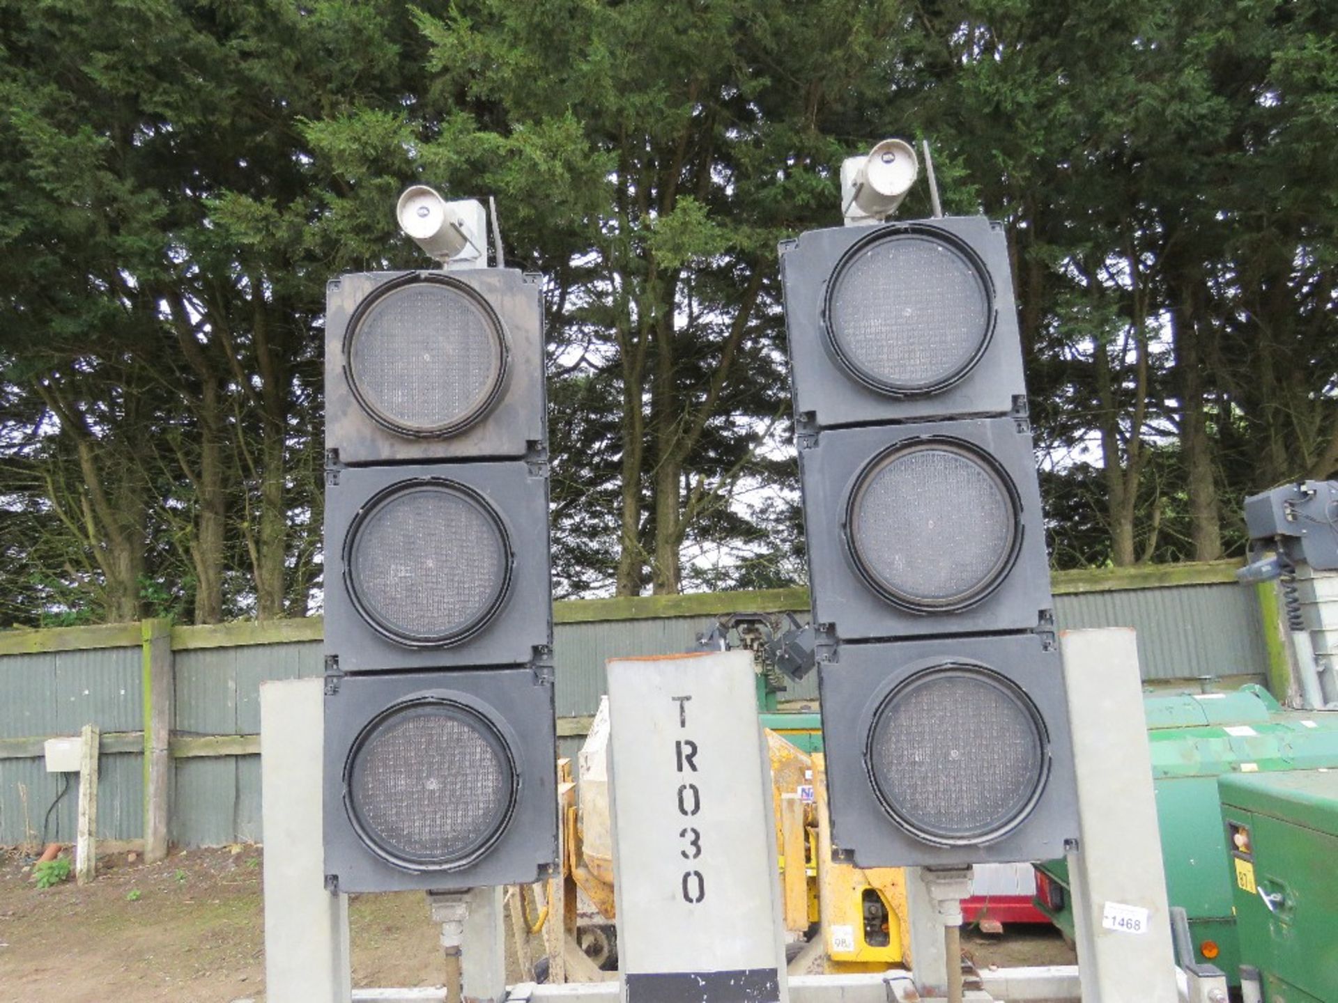
M325 730L339 891L530 884L557 859L551 670L344 677Z

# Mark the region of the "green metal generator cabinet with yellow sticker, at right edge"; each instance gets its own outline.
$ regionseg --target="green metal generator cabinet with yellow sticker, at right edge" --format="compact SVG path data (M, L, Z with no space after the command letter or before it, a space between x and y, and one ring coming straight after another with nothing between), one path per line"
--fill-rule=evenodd
M1338 1000L1338 770L1219 782L1240 962L1267 1003Z

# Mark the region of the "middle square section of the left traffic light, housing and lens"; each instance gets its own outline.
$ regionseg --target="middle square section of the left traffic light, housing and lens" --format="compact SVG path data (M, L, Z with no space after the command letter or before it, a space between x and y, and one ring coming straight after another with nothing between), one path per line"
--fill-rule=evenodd
M523 460L329 472L326 655L345 673L535 658L553 643L547 502L546 465Z

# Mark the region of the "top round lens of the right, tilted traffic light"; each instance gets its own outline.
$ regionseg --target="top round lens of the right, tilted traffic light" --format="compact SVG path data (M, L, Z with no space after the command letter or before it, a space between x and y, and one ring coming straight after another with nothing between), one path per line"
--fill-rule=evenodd
M989 345L993 304L981 267L937 237L894 233L838 266L828 337L875 389L933 393L961 380Z

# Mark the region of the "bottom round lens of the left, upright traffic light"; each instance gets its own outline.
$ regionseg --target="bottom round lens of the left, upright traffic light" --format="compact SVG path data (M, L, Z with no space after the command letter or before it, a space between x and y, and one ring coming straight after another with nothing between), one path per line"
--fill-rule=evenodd
M472 709L446 701L391 707L357 737L345 770L359 834L411 869L463 865L492 845L515 789L502 736Z

